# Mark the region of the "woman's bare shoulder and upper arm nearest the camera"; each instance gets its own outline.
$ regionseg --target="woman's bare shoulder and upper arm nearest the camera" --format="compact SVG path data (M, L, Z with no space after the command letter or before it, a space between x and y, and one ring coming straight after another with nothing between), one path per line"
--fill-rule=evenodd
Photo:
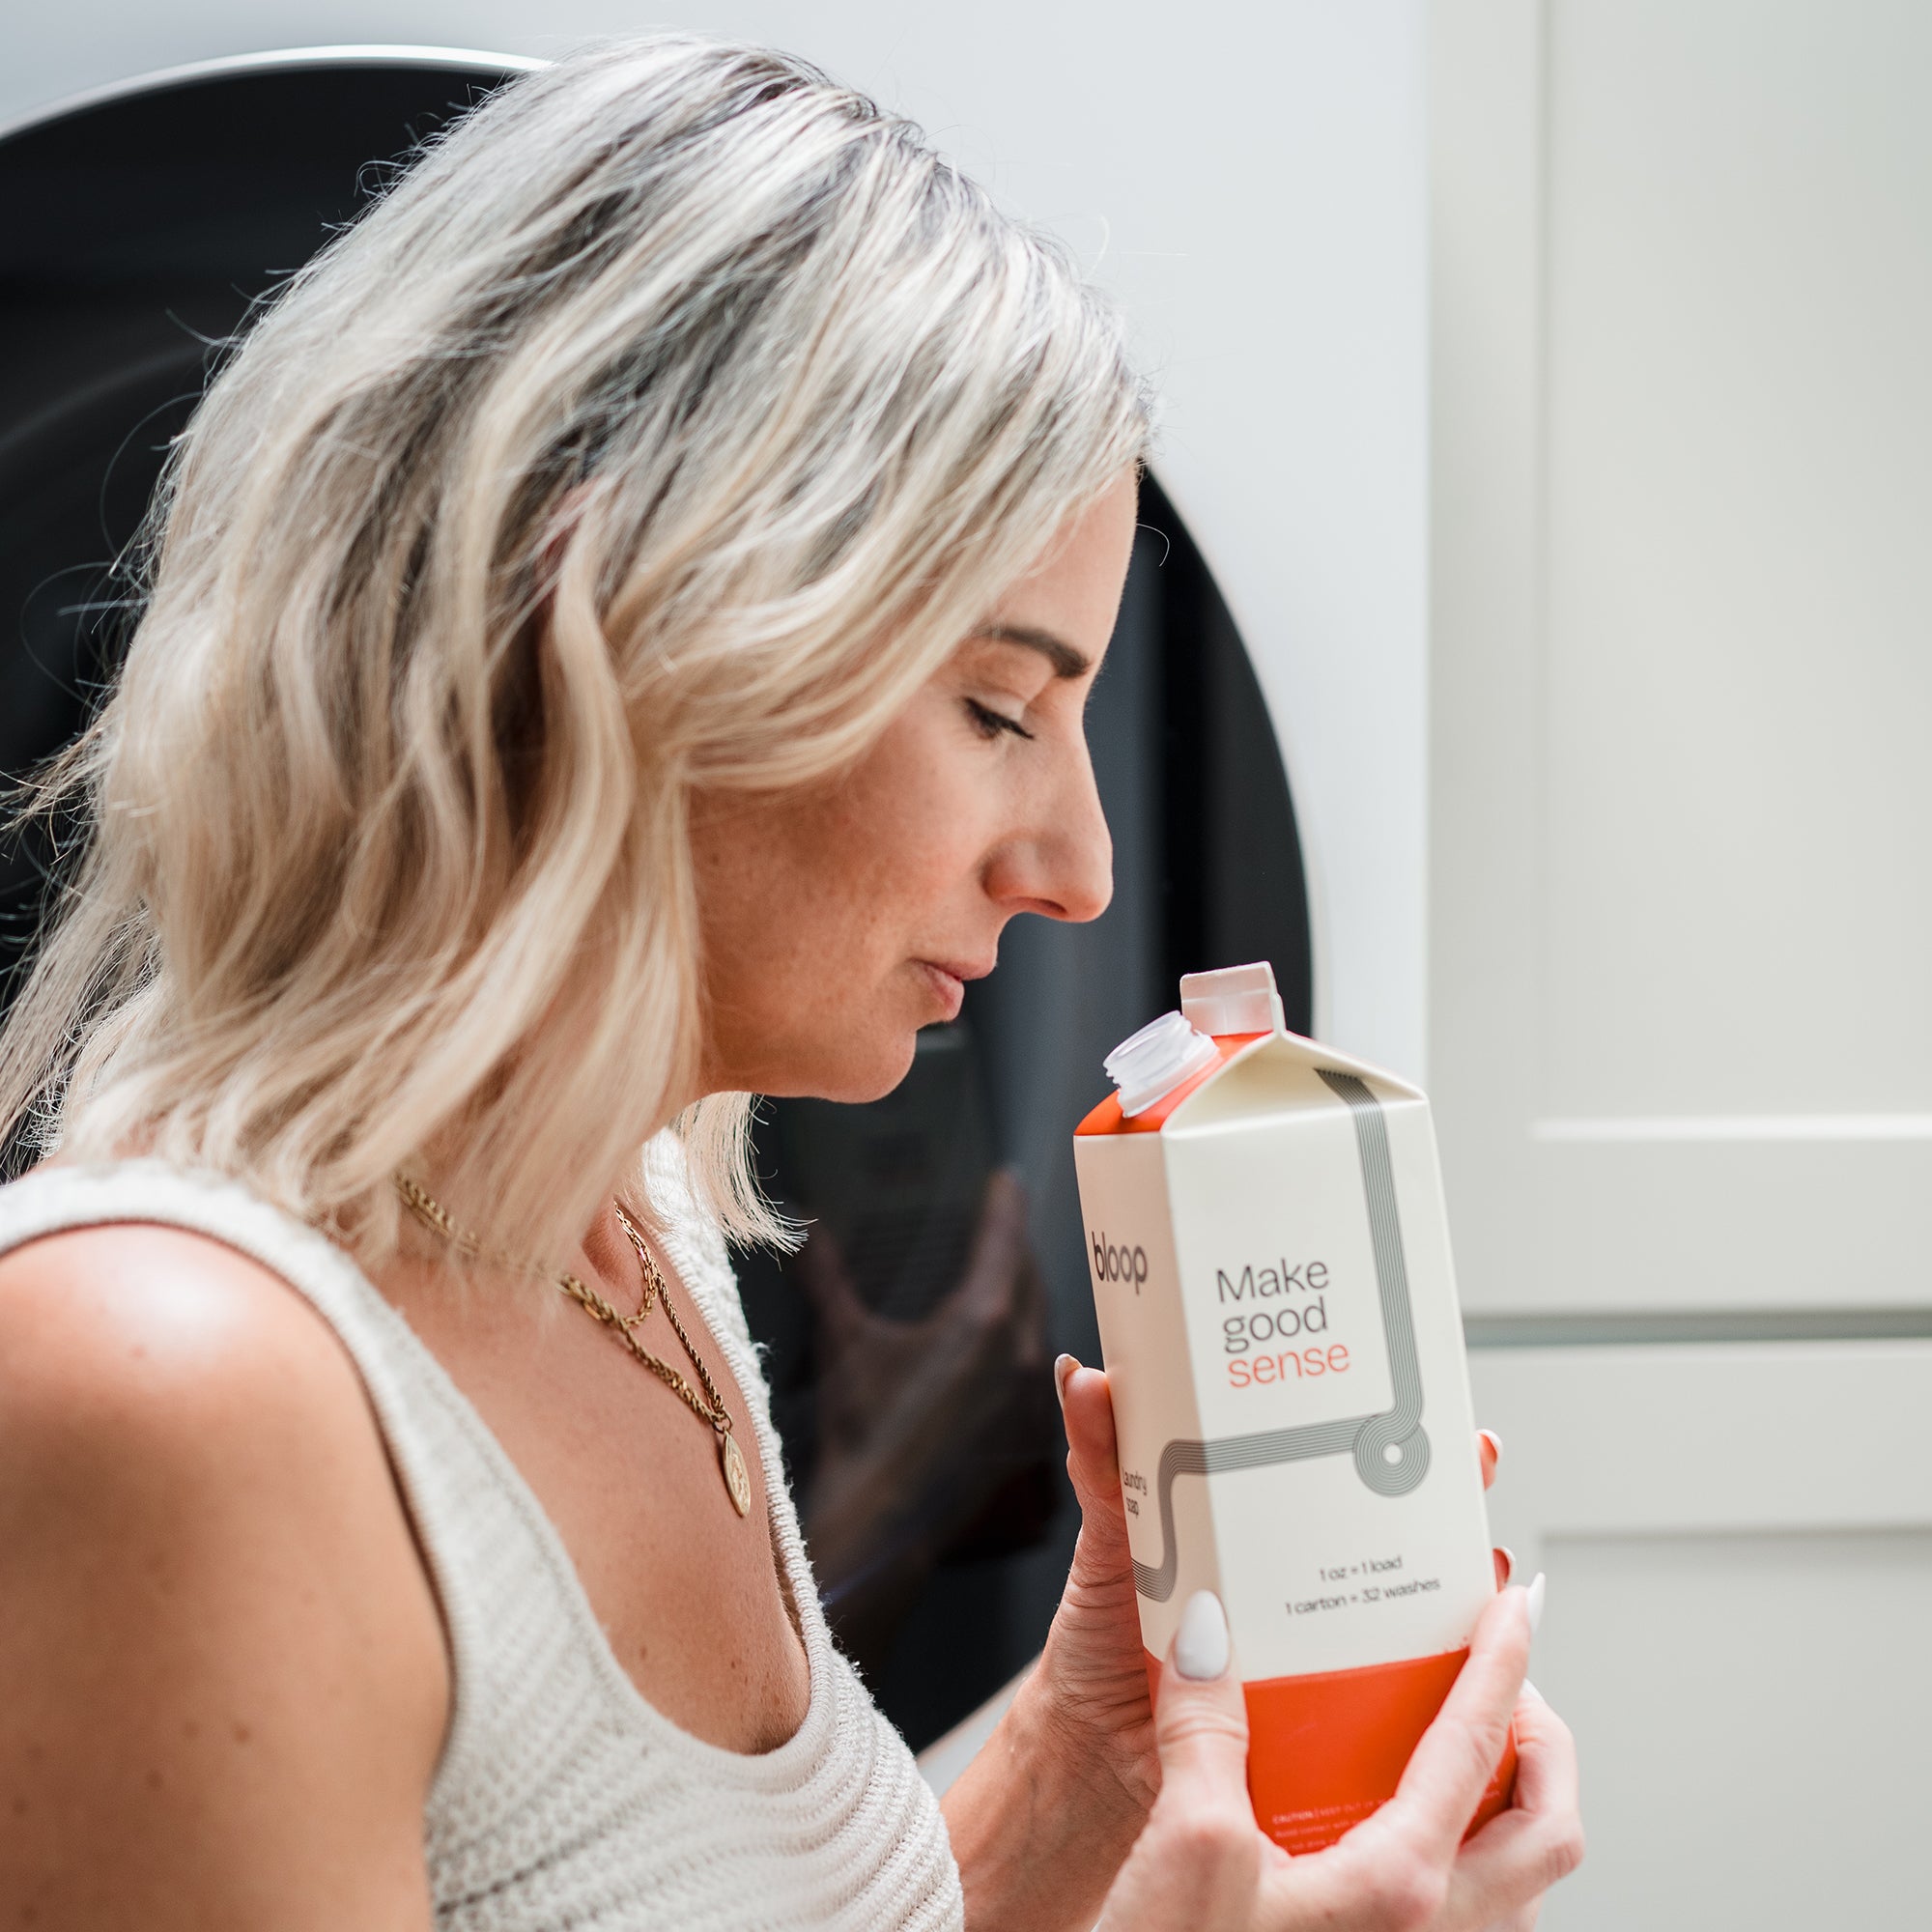
M307 1302L178 1229L0 1258L0 1922L427 1924L446 1708Z

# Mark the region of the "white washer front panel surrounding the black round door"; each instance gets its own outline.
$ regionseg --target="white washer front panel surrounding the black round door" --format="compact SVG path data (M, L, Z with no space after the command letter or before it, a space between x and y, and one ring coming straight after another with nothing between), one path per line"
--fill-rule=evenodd
M0 21L0 116L214 54L553 54L612 0L71 0ZM1159 475L1258 661L1318 896L1318 1024L1416 1074L1426 933L1420 0L748 0L680 25L804 52L920 118L1126 301Z

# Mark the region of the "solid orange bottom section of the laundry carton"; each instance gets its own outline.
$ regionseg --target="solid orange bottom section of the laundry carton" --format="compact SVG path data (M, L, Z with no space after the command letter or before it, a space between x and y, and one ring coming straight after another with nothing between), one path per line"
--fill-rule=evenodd
M1262 1830L1283 1851L1320 1851L1379 1810L1395 1797L1410 1754L1466 1658L1466 1650L1447 1650L1358 1671L1264 1677L1242 1685L1248 1795ZM1161 1665L1151 1656L1148 1681L1159 1696ZM1509 1804L1515 1783L1517 1741L1511 1737L1468 1822L1470 1832Z

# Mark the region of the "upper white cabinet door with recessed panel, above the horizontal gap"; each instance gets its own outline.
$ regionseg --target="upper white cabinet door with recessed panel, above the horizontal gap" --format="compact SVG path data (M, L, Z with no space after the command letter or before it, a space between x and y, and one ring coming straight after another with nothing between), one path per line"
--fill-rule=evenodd
M1932 8L1437 0L1472 1312L1932 1302Z

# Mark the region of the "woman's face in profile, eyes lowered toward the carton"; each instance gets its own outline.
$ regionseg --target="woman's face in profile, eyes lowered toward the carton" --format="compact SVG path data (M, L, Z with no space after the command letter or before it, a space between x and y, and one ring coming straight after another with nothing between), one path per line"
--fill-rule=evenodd
M1016 912L1092 920L1113 844L1082 713L1134 541L1122 475L844 777L699 800L707 1092L889 1094Z

